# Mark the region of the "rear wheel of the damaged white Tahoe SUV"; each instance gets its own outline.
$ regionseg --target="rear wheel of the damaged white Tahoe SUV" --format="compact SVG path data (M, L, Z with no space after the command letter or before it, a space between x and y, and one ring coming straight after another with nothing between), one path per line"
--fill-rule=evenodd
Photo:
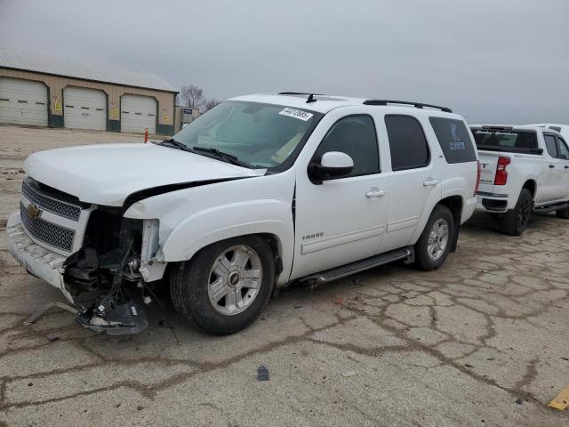
M437 205L415 244L415 265L421 270L437 270L451 249L454 238L454 219L450 209Z

